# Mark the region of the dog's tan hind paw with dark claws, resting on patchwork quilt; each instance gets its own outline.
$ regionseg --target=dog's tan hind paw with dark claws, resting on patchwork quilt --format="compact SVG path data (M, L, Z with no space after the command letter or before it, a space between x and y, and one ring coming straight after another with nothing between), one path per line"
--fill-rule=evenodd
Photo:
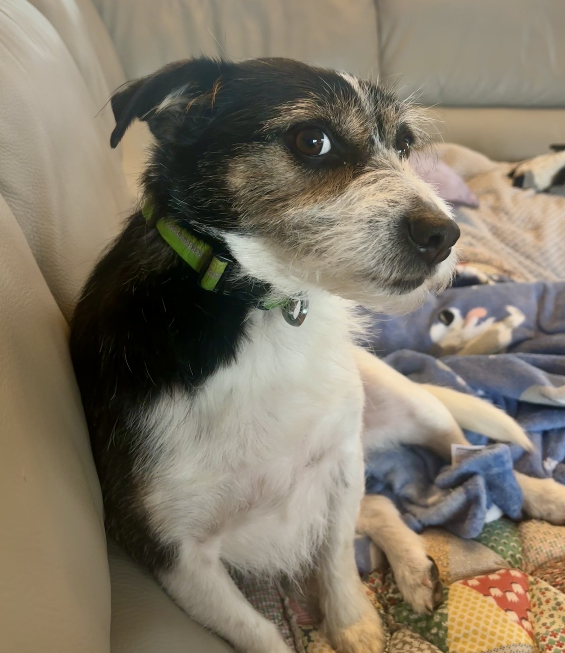
M400 593L415 613L428 614L443 602L444 586L438 567L430 556L403 560L393 572Z

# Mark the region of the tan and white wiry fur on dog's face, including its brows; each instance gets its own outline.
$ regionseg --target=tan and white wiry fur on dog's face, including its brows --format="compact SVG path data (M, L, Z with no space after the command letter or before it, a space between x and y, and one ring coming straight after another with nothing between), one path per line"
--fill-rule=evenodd
M278 261L278 275L285 271L297 287L312 284L372 308L409 310L449 281L453 259L425 279L408 261L402 220L422 212L450 217L450 210L394 150L400 128L410 129L417 147L427 143L421 112L396 101L376 104L369 82L355 80L351 88L331 105L314 97L284 105L265 129L323 120L363 151L363 165L308 168L279 139L243 146L228 164L233 206L240 226ZM395 284L406 280L419 288L399 299Z

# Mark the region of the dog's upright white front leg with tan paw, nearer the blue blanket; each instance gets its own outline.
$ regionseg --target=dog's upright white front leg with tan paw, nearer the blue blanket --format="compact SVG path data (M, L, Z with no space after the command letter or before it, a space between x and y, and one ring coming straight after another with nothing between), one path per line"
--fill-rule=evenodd
M336 481L329 532L321 552L322 629L338 653L381 653L385 643L381 620L359 578L353 552L355 521L364 491L361 436L350 458Z

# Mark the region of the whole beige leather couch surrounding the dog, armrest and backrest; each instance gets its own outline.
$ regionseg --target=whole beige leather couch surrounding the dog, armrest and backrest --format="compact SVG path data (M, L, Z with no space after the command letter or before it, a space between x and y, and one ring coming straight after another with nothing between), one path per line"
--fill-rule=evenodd
M95 5L97 5L95 7ZM199 52L284 54L420 86L447 137L500 158L565 140L559 0L0 0L0 651L215 653L116 547L67 349L131 209L136 132L110 91ZM125 156L127 178L122 170Z

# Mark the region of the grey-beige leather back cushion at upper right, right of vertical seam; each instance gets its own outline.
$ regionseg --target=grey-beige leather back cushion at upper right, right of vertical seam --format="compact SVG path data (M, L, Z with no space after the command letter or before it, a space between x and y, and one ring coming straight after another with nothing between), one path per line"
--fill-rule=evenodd
M450 106L565 106L562 0L377 4L381 78L404 95Z

